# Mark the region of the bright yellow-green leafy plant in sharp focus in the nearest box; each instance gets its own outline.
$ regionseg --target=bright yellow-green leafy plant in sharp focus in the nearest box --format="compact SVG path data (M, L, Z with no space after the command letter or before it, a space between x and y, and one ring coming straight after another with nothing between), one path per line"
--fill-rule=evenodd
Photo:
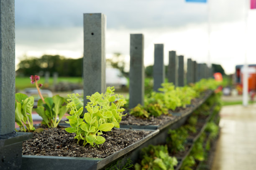
M124 109L121 108L125 104L125 100L121 95L113 95L114 87L108 87L105 94L95 92L91 96L86 98L90 100L87 103L87 112L84 113L84 117L80 118L83 112L83 107L77 110L75 100L78 100L78 94L68 95L69 102L67 107L70 107L70 115L67 116L69 121L66 121L71 125L70 128L65 130L69 133L76 133L74 137L77 139L77 143L83 140L83 146L89 143L92 146L100 145L105 142L105 138L101 135L103 132L110 131L116 124L119 126L119 122ZM117 100L116 100L117 99ZM111 104L110 104L111 103ZM112 123L113 122L113 123Z

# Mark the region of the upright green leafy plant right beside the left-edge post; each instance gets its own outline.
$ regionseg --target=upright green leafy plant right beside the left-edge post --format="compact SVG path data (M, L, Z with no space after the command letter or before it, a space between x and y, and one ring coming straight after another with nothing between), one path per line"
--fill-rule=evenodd
M15 94L15 122L20 127L21 131L26 132L26 128L28 132L33 132L35 130L32 119L33 105L33 96L28 97L22 93Z

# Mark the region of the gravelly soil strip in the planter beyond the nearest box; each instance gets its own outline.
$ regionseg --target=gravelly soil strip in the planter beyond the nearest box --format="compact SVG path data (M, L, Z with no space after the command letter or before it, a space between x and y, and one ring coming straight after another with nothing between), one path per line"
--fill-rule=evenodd
M184 114L191 110L192 108L199 105L199 103L208 97L212 93L212 90L205 91L201 97L195 98L191 100L191 104L187 105L187 107L177 107L175 110L169 110L169 115L160 115L158 117L151 116L149 118L140 118L130 115L129 113L122 117L122 121L120 125L164 125L166 122L174 120L177 116L172 115L172 113Z

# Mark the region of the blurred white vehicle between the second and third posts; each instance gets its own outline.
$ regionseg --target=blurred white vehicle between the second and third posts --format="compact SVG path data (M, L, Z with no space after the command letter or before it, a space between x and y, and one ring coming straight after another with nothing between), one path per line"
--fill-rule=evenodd
M107 87L123 88L128 84L128 80L117 68L106 68L106 85Z

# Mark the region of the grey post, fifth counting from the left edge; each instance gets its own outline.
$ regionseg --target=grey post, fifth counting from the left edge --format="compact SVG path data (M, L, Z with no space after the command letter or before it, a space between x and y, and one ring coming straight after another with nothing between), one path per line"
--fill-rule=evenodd
M169 51L168 82L178 85L178 56L176 51Z

